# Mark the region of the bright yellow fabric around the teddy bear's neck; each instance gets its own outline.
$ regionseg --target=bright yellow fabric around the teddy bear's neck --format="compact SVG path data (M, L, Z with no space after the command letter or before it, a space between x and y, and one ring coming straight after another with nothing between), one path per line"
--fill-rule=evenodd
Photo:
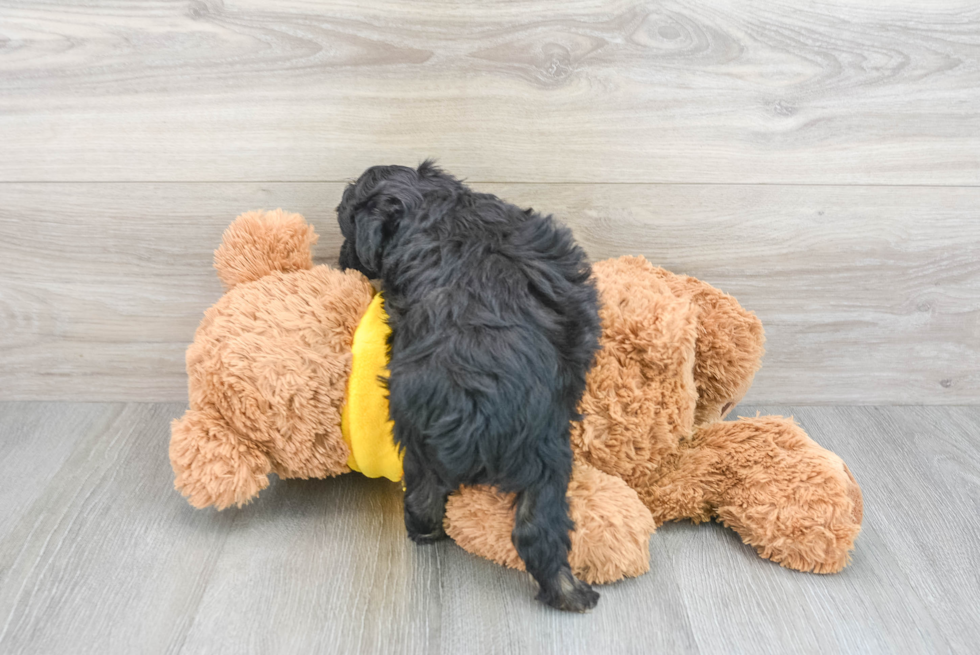
M381 294L376 294L354 331L351 345L347 404L340 430L350 449L347 466L369 478L402 479L402 456L395 446L394 423L388 418L388 315Z

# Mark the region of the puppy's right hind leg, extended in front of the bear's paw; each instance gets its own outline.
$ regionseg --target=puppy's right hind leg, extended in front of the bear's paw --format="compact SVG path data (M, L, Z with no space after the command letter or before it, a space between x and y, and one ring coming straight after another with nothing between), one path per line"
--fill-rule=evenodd
M528 573L541 590L537 599L569 612L587 612L599 602L599 594L572 575L568 565L573 524L568 517L565 493L568 478L548 477L517 495L514 547Z

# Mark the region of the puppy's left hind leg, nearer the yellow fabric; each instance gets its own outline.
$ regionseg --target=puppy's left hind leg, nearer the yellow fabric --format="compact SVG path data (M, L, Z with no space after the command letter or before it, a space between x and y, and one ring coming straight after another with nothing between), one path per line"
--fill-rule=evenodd
M446 499L452 491L432 470L431 463L405 449L405 529L417 544L428 544L446 538L443 519Z

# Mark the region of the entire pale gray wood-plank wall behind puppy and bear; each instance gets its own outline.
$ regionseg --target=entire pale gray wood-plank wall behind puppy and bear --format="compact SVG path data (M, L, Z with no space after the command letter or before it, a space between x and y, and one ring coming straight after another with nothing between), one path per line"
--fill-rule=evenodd
M0 399L185 397L231 218L438 156L766 322L749 400L980 399L969 0L0 3Z

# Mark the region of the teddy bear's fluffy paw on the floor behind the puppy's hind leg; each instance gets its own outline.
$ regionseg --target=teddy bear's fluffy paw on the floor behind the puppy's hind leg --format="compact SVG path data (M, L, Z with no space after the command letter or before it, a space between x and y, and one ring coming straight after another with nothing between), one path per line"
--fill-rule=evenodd
M568 499L575 522L568 560L578 579L605 584L649 570L653 518L625 482L576 462ZM489 487L463 487L449 497L446 532L459 546L524 570L511 537L513 529L513 494Z

